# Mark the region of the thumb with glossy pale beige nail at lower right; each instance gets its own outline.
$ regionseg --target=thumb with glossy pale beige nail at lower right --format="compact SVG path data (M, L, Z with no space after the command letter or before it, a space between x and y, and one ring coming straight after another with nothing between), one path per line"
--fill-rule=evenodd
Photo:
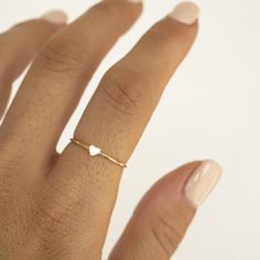
M170 259L220 175L220 166L207 160L186 164L161 178L134 210L109 259Z

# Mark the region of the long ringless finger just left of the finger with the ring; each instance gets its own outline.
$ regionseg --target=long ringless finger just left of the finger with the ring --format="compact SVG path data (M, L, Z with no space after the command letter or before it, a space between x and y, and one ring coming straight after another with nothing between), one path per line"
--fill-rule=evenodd
M0 140L15 153L22 149L23 160L50 163L86 84L141 9L141 4L124 0L101 1L52 37L26 75ZM28 149L24 143L30 143Z

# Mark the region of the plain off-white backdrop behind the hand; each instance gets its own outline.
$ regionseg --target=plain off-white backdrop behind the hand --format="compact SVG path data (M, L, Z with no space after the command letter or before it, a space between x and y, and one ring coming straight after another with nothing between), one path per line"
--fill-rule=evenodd
M50 9L71 20L96 1L0 0L0 30ZM101 75L177 3L148 0L144 13L99 67L59 143L62 150ZM219 161L225 175L199 209L175 260L260 259L260 1L197 0L197 42L169 84L124 172L104 259L142 194L196 159ZM30 41L30 39L29 39Z

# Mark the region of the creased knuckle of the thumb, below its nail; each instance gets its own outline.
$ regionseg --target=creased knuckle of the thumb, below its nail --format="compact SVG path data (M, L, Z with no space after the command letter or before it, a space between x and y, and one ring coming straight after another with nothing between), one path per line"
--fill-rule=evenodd
M151 220L151 231L161 249L171 256L182 241L186 228L183 216L170 213L158 213Z

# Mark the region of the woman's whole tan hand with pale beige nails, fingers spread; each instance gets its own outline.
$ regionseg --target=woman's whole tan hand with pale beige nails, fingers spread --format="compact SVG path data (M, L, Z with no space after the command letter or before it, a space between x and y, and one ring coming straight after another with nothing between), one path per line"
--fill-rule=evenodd
M0 113L36 54L0 127L0 258L100 259L123 167L56 143L102 57L138 19L140 1L106 0L65 25L52 12L0 35ZM197 33L197 8L178 6L101 79L74 139L126 163ZM110 259L169 259L220 176L192 162L141 201Z

